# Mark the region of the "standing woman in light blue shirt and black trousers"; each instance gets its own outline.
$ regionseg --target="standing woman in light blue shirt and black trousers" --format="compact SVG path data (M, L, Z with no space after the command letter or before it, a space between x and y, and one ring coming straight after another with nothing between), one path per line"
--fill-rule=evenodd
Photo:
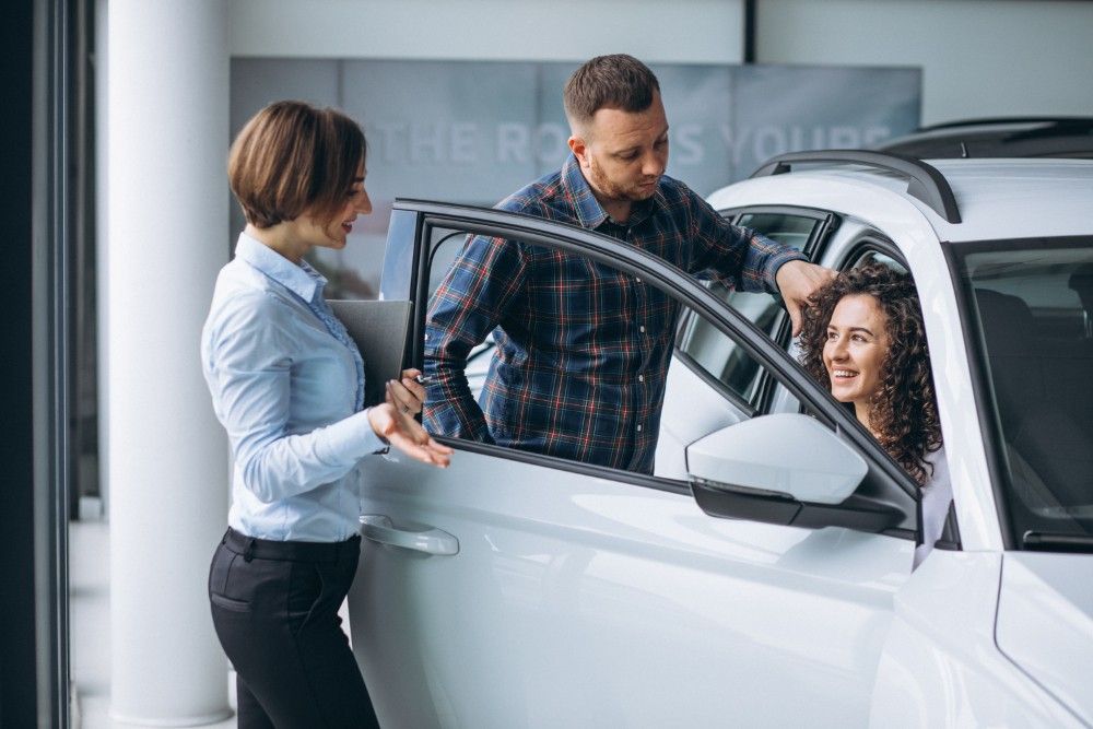
M216 280L201 363L235 460L209 598L237 673L238 726L378 726L338 616L360 556L356 466L391 445L445 467L451 449L413 420L414 371L362 409L361 353L304 260L343 248L372 212L361 128L272 104L239 132L228 177L247 226Z

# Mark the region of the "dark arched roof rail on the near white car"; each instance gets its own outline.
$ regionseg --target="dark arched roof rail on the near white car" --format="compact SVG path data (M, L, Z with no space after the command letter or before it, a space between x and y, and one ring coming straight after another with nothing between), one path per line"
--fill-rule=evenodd
M921 160L908 157L892 152L871 152L868 150L813 150L806 152L787 152L771 157L752 173L752 177L768 177L792 171L795 164L811 164L836 162L844 164L879 167L898 173L909 178L907 195L925 202L930 210L944 217L950 223L961 222L960 210L956 208L956 196L949 180L937 167Z

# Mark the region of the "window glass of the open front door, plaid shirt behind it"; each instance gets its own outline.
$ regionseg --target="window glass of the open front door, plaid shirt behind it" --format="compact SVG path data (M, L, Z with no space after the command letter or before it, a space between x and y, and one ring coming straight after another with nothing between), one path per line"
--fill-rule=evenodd
M440 228L430 242L431 432L683 479L686 444L747 416L689 368L669 375L684 310L673 296L541 245ZM694 326L710 352L734 349L712 325Z

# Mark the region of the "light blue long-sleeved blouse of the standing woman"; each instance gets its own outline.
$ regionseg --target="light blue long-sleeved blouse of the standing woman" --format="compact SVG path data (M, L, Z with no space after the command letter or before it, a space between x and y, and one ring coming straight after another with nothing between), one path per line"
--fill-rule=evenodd
M361 410L364 365L322 298L326 283L246 234L216 279L201 363L235 461L228 524L249 537L356 534L356 465L385 449Z

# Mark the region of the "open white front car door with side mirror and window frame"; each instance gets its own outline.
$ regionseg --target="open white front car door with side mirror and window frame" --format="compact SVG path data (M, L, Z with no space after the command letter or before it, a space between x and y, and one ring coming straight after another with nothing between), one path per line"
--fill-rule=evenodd
M384 726L867 724L917 491L853 415L747 317L632 245L422 201L398 201L389 231L383 296L413 302L408 365L422 365L433 289L481 234L637 278L807 414L703 409L675 454L686 478L443 436L447 470L366 459L350 622ZM707 387L669 383L662 418L720 398Z

